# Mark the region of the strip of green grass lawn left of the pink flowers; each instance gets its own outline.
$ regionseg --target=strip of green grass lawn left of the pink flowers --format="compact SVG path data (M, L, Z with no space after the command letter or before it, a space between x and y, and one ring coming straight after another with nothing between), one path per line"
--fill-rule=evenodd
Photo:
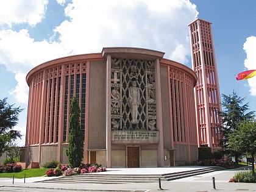
M10 172L10 173L0 173L0 177L14 177L21 179L24 178L24 174L26 174L27 177L41 177L46 175L46 171L48 171L48 168L38 168L38 169L23 169L21 172Z

